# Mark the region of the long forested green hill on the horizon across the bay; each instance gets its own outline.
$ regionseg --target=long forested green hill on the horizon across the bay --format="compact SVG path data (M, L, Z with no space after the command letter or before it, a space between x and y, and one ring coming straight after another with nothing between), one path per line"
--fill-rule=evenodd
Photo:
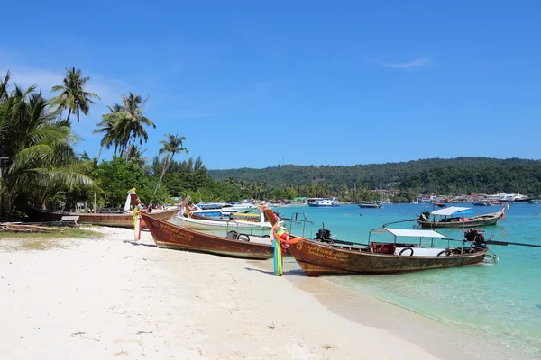
M428 158L357 166L284 165L263 169L210 170L215 180L271 186L327 184L337 190L399 188L418 193L541 193L541 161L519 158Z

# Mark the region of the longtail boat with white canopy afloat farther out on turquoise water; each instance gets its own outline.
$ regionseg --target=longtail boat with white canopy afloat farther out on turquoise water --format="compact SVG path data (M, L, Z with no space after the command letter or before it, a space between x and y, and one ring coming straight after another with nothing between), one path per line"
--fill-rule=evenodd
M473 215L471 208L453 206L432 212L425 211L417 220L421 228L479 228L496 225L505 219L505 206L498 212L484 215Z

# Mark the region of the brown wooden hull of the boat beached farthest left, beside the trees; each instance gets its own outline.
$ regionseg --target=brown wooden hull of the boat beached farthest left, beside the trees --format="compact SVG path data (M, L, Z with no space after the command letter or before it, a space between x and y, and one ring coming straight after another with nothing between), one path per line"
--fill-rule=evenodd
M152 215L160 220L169 220L177 212L179 212L178 209L154 211ZM78 216L78 224L133 229L133 214L131 213L50 212L35 208L28 209L27 213L32 221L60 221L63 216ZM146 224L142 222L141 227L146 229Z

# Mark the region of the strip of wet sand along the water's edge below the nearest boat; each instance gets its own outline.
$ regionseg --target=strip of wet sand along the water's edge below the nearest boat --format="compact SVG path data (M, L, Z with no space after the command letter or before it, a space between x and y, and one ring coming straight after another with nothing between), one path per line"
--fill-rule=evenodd
M308 277L291 257L284 258L284 275L298 289L316 297L328 311L365 326L389 331L422 347L441 359L534 360L490 339L472 336L459 329L429 319L415 311L349 289L332 281L332 276ZM271 262L250 261L272 274ZM340 275L338 275L340 276ZM344 275L342 275L344 276Z

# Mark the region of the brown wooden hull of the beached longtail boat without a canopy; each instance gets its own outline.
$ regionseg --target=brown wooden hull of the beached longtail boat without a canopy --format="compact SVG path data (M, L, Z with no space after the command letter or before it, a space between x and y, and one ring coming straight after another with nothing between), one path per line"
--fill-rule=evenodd
M160 220L154 214L142 213L157 247L173 248L250 259L273 257L271 245L219 237Z

